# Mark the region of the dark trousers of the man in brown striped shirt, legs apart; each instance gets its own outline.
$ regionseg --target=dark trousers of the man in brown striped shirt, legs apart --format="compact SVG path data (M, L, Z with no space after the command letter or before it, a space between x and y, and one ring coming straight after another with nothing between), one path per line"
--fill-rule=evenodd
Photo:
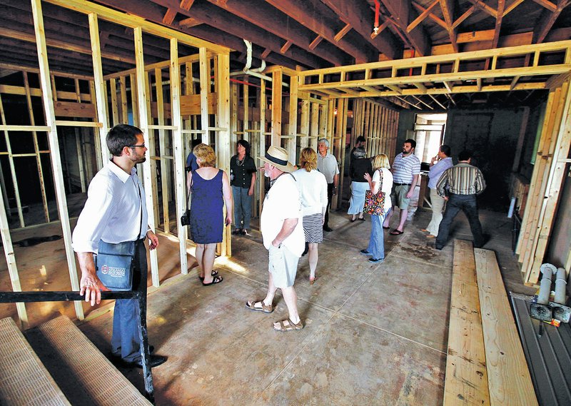
M437 248L442 248L446 244L446 241L448 241L450 225L452 225L454 218L460 210L465 213L468 218L468 223L470 223L470 230L472 230L472 235L474 236L474 247L480 248L484 245L482 225L477 216L476 195L450 194L444 216L438 228L438 237L436 237Z

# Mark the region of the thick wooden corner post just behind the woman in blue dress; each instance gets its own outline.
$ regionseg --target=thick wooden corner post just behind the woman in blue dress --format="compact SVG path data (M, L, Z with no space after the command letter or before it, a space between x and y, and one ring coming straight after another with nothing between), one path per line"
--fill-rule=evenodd
M218 54L216 64L218 72L218 128L216 131L216 151L218 168L230 173L230 54ZM234 144L236 145L236 143ZM232 256L231 227L224 227L222 255Z

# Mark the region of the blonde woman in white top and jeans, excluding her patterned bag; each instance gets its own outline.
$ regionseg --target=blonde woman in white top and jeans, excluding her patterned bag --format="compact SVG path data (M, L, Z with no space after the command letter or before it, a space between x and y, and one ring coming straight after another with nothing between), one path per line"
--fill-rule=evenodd
M378 263L385 259L385 235L383 234L383 221L390 210L390 191L393 188L393 173L390 173L388 157L381 153L375 156L373 161L373 178L368 173L363 176L369 183L369 190L376 194L378 191L385 193L384 213L382 215L371 215L371 228L369 246L366 250L361 250L363 255L370 255L369 262Z

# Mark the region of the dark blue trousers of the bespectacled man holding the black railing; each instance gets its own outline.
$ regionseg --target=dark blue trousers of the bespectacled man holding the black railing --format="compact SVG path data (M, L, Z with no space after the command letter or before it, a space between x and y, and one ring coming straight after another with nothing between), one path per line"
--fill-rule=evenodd
M147 251L145 240L136 243L135 270L133 273L133 290L140 288L143 294L147 291ZM111 351L126 362L141 359L141 339L138 336L138 301L136 299L115 300L113 310L113 336Z

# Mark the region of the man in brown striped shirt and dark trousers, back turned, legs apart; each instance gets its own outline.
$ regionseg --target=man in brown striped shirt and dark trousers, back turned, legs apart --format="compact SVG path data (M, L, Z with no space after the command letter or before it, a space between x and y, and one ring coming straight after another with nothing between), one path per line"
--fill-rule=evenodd
M438 228L437 250L443 249L446 244L450 225L460 210L468 217L470 230L474 236L474 247L482 248L485 244L482 225L477 215L476 195L484 191L486 183L480 169L470 165L471 159L472 153L462 151L458 155L458 165L444 171L436 184L438 195L448 201Z

